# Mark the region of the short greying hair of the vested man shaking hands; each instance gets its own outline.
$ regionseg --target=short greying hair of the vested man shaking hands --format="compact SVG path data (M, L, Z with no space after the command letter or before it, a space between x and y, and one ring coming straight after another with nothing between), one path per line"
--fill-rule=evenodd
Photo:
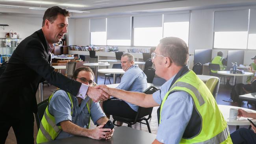
M160 53L171 58L177 66L187 65L188 47L186 42L178 37L165 37L160 40Z

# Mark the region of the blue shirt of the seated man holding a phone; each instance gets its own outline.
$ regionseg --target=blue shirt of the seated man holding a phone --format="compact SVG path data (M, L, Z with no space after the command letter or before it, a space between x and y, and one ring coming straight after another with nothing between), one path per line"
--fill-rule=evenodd
M52 99L49 103L49 112L54 115L57 126L60 126L60 122L65 120L70 120L72 123L86 128L89 124L89 111L87 109L86 103L89 100L88 96L85 100L82 100L80 107L78 105L78 99L75 96L72 96L73 99L73 113L71 116L71 102L69 96L64 90L58 90L52 96ZM103 116L106 116L102 109L100 108L99 103L92 102L90 107L91 120L96 125L98 119ZM64 131L61 131L56 139L72 137Z

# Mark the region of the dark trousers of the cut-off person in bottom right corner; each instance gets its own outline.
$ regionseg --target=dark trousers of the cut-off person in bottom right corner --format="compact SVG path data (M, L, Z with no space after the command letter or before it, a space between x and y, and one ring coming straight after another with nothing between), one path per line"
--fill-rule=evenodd
M256 144L256 133L244 127L237 129L230 137L233 144Z

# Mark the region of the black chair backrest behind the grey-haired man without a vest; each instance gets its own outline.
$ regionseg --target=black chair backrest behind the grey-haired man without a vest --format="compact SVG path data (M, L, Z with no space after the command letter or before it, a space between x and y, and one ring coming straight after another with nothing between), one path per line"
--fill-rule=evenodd
M156 89L156 87L150 86L143 93L145 93L145 94L153 94L157 90L158 89ZM142 118L142 117L147 116L147 115L149 115L151 117L152 110L153 110L153 107L147 107L147 108L146 107L139 107L137 115L135 117L135 122L137 121L137 118Z

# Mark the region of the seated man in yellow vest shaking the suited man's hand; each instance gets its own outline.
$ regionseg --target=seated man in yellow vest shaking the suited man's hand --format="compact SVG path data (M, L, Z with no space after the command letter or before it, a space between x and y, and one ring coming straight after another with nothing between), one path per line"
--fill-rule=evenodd
M153 144L232 143L226 121L206 85L189 70L187 44L177 37L160 40L152 62L167 80L153 94L97 86L111 96L141 107L158 109L158 133Z

